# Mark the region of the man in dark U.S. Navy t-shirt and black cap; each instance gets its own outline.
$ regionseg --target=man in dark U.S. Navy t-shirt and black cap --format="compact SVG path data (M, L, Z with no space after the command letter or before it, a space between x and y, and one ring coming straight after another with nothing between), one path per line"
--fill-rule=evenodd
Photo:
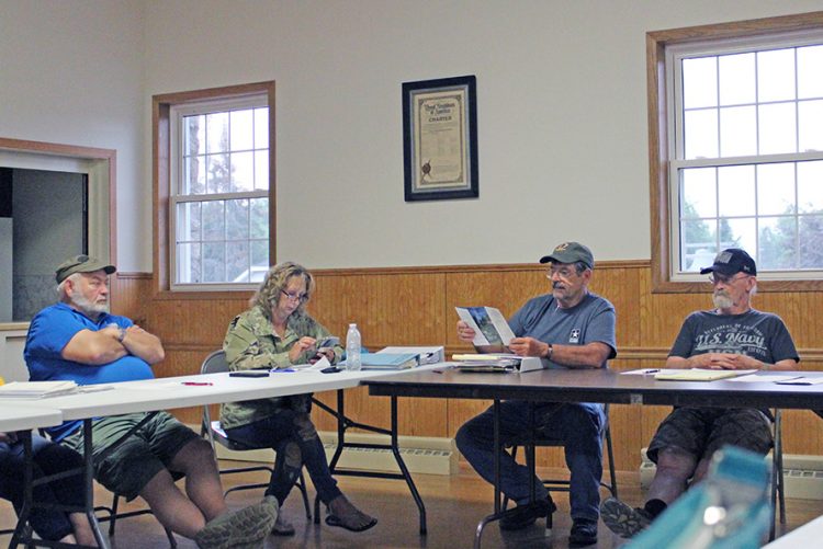
M757 291L754 260L744 250L729 248L700 271L708 273L714 309L686 318L666 367L793 369L800 357L783 321L752 308ZM752 408L675 408L646 450L657 469L644 505L632 508L618 499L606 500L600 510L606 526L627 538L646 528L687 485L703 478L712 455L723 445L765 456L773 445L767 414Z

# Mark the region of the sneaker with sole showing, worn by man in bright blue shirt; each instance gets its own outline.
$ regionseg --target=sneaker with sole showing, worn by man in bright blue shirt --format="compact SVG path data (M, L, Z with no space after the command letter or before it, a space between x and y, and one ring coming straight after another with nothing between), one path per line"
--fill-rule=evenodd
M278 519L278 501L266 497L258 504L224 513L208 521L194 536L200 549L260 549Z

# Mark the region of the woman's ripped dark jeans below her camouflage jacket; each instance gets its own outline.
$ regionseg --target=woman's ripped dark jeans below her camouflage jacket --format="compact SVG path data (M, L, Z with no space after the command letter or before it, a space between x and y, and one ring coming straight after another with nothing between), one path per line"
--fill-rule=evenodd
M341 494L328 469L323 443L306 412L283 409L264 420L227 428L226 434L233 441L249 446L268 446L277 451L266 495L273 495L281 505L304 465L323 503L328 505Z

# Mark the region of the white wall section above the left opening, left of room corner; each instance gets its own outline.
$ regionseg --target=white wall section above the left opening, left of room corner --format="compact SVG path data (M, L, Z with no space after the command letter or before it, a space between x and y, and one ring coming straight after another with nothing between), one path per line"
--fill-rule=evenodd
M142 0L0 0L0 137L117 151L121 271L151 271Z

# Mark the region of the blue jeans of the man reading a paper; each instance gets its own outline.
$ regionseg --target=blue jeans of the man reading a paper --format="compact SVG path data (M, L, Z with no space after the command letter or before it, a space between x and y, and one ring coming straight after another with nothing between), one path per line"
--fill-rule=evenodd
M600 516L600 479L602 478L602 432L606 414L602 404L500 402L500 442L527 436L530 407L534 407L534 426L542 438L564 443L566 465L571 472L568 500L572 518L597 521ZM467 421L456 435L458 448L488 482L494 482L494 412L489 408ZM530 471L500 451L500 491L518 505L529 502ZM534 478L535 495L548 491Z

